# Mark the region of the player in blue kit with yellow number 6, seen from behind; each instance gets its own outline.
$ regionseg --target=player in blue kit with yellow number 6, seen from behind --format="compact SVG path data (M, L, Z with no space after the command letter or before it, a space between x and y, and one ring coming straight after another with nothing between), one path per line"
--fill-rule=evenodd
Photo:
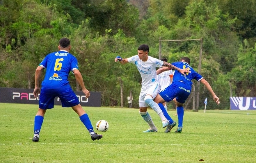
M59 51L48 54L35 70L35 89L33 94L35 97L38 97L40 93L40 99L39 109L35 115L34 137L32 141L39 141L39 133L45 112L47 109L54 107L55 97L60 98L62 107L71 107L79 115L80 120L89 131L92 140L102 138L102 135L94 132L88 115L81 107L76 94L69 84L68 75L72 71L86 98L90 96L90 92L86 89L83 83L83 77L78 69L77 58L69 53L70 48L70 40L62 38L59 40ZM46 73L42 81L42 88L40 89L39 79L44 69L46 69Z

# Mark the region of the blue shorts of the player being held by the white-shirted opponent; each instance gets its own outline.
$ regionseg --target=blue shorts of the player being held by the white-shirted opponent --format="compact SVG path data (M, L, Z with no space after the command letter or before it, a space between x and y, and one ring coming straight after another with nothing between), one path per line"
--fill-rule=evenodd
M166 101L170 102L176 97L176 101L179 103L185 103L191 92L191 86L186 85L183 82L174 82L166 89L163 89L159 95Z

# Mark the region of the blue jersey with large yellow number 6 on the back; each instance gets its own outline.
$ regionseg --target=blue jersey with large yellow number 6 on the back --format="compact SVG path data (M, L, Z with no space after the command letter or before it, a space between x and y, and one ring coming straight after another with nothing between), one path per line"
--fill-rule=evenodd
M65 50L48 54L39 66L46 68L45 78L42 81L44 89L68 88L70 71L78 69L77 58Z

